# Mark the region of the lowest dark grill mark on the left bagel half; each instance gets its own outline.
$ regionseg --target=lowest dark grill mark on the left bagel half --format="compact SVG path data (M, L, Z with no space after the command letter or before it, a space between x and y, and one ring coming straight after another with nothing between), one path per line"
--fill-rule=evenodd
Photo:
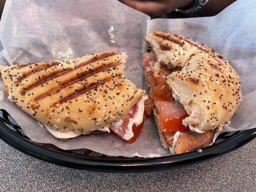
M76 92L74 92L74 93L72 93L68 96L63 97L59 102L54 103L52 105L52 107L56 107L57 104L67 102L67 101L73 99L74 97L77 97L81 94L86 93L87 91L89 91L91 89L97 88L99 85L105 84L106 82L110 81L111 79L112 79L111 77L108 77L108 78L103 79L100 82L93 82L91 84L87 84L87 86L84 86L82 89L78 89Z

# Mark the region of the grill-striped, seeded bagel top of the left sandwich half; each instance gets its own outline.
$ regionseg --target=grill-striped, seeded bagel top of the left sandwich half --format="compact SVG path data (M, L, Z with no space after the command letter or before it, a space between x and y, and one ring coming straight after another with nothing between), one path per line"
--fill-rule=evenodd
M144 92L125 78L125 53L1 66L6 93L25 112L61 132L92 132L122 119Z

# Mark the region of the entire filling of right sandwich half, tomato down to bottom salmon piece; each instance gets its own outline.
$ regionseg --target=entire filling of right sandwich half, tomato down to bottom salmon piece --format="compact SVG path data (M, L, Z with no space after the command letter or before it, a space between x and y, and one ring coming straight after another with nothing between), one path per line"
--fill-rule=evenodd
M153 51L146 53L143 60L146 82L150 98L154 101L154 112L157 114L163 146L169 148L172 154L206 147L213 140L215 131L201 132L184 126L183 120L188 114L177 101L179 96L167 84L169 74L177 69L169 69L158 62Z

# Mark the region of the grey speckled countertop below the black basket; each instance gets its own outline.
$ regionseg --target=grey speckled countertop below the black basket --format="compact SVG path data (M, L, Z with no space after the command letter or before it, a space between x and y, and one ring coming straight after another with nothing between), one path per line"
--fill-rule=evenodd
M216 159L147 173L98 173L27 156L0 140L1 192L255 192L256 139Z

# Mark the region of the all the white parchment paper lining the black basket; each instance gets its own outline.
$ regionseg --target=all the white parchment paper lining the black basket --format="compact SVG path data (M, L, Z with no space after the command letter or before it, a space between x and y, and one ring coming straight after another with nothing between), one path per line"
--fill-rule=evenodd
M256 126L256 92L253 92L256 90L256 10L253 2L241 1L215 17L149 21L145 14L117 0L7 0L0 22L0 40L6 54L0 55L3 56L0 62L7 65L76 58L107 50L125 51L128 54L126 76L137 87L146 89L142 67L146 31L177 33L214 48L230 60L240 76L244 97L226 131L253 128ZM4 92L2 84L0 90ZM109 156L170 154L160 145L153 117L146 119L134 144L126 144L113 134L60 141L6 95L0 101L0 108L6 109L25 134L39 143L54 144L66 150L87 148Z

